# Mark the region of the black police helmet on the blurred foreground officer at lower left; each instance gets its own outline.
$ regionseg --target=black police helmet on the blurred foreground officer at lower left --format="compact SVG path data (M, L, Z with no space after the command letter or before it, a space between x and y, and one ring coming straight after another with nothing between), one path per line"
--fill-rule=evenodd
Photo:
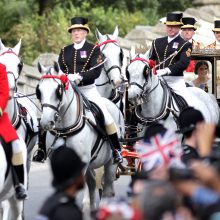
M82 173L84 167L85 163L74 150L66 146L59 147L51 156L52 185L58 190L65 189Z

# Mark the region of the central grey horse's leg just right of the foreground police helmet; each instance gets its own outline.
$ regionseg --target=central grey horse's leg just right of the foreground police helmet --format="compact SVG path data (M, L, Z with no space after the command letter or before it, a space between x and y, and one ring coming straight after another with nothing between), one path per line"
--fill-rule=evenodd
M95 171L93 169L88 169L86 171L86 183L89 190L89 199L90 199L90 209L95 210L96 200L95 200L95 190L96 190L96 178Z

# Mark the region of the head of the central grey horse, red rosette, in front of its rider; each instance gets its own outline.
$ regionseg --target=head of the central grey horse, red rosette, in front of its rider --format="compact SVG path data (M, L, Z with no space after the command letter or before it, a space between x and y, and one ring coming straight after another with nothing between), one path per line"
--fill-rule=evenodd
M36 96L41 102L42 117L41 127L52 130L60 121L60 111L66 101L66 88L68 78L60 72L57 62L53 66L44 67L38 63L38 70L42 74L36 87Z

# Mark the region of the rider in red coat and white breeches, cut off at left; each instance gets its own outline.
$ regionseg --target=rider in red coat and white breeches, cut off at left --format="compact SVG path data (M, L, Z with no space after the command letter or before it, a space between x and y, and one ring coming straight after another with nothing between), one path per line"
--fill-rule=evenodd
M9 85L6 67L0 63L0 136L3 141L12 146L11 163L13 165L14 184L16 198L27 198L27 170L26 170L26 146L21 141L12 126L8 114L4 112L9 98Z

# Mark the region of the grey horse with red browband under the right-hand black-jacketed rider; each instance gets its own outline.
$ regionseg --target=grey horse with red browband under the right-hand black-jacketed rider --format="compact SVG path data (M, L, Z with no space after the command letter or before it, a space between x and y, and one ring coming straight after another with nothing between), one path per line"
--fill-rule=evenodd
M129 79L128 98L135 103L135 114L139 122L149 124L165 120L165 126L177 128L174 116L179 115L175 100L170 99L166 84L152 73L145 54L136 56L131 50L131 63L126 72ZM208 122L216 123L219 119L219 107L213 95L196 87L188 87L196 109L200 110Z

